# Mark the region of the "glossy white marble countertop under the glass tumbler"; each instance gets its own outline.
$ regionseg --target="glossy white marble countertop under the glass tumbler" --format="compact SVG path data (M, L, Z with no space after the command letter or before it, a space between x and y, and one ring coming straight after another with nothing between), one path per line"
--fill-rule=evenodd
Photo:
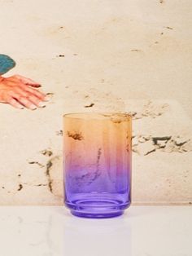
M64 207L1 206L2 256L191 256L191 206L131 206L76 218Z

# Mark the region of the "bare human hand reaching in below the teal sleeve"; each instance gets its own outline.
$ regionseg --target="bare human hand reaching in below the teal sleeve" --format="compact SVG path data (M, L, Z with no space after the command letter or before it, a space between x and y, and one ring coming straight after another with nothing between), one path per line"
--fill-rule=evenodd
M46 94L33 88L41 85L33 80L15 75L12 77L0 76L0 102L11 104L15 108L36 109L43 108L47 101Z

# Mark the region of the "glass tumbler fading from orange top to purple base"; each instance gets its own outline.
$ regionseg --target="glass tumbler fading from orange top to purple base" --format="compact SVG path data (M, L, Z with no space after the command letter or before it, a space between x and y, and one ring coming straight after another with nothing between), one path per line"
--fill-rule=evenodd
M64 203L73 215L110 218L129 207L131 137L127 113L63 116Z

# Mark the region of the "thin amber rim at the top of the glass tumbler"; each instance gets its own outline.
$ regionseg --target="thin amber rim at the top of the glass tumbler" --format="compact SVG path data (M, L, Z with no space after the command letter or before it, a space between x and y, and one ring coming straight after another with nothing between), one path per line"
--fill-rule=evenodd
M119 117L129 117L130 119L132 119L132 116L130 113L120 113L120 112L94 112L94 113L91 113L91 112L74 112L74 113L65 113L63 114L63 117L64 118L73 118L73 119L84 119L83 117L78 117L78 115L85 115L85 116L91 116L91 115L110 115L111 117L113 115L115 116L119 116ZM75 117L77 116L77 117ZM92 118L94 119L94 117Z

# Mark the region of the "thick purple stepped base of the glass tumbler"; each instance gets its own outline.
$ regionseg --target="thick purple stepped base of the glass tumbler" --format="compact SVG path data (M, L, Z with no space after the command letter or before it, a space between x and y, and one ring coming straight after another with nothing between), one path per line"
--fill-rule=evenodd
M65 205L71 210L72 215L82 218L113 218L124 214L130 202L123 203L112 196L78 196L72 202L65 201ZM86 199L85 199L86 198ZM89 198L89 199L87 199Z

